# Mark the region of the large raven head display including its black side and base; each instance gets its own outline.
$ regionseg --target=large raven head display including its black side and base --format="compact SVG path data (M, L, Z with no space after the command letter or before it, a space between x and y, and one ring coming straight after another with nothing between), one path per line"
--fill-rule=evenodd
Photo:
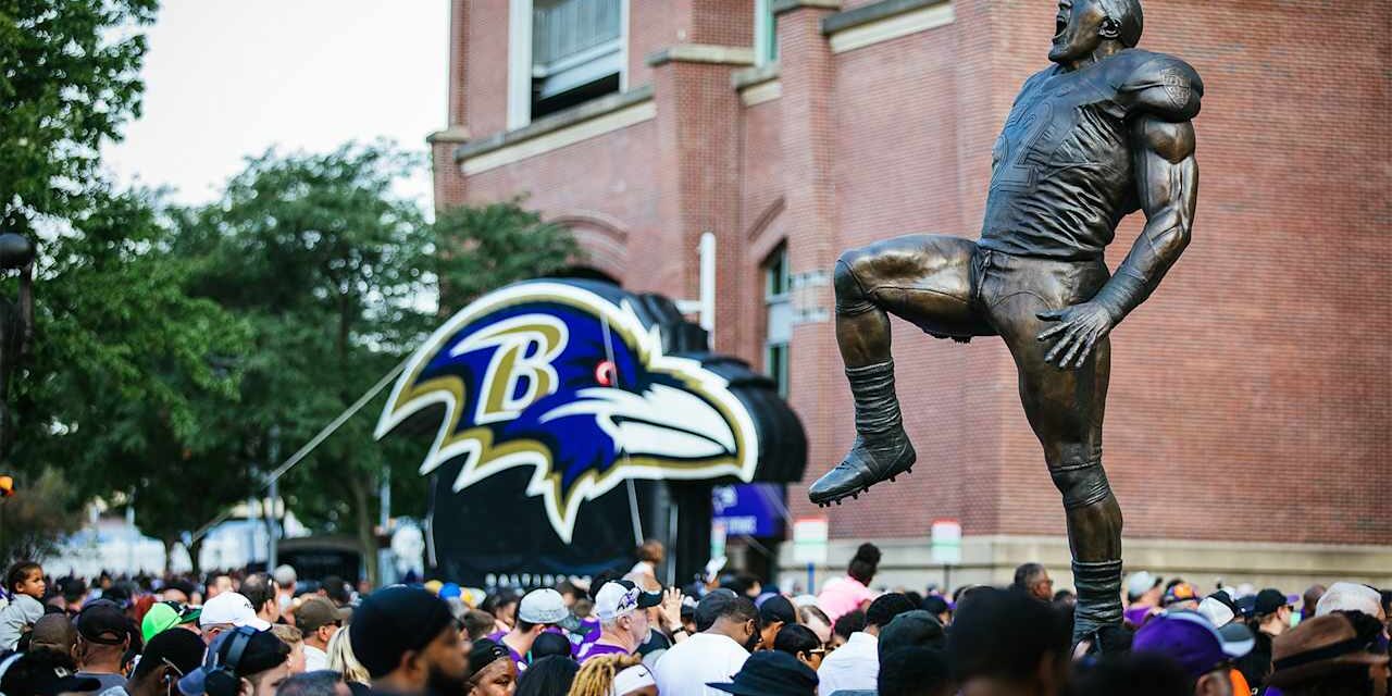
M525 535L514 548L599 541L600 551L498 561L489 572L590 571L599 557L632 553L626 482L800 477L796 416L770 380L710 355L706 342L657 295L583 280L518 283L464 308L420 345L376 436L434 432L420 464L436 477L434 551L447 535L469 535L470 544L498 535L494 525L468 529L493 509L501 516L491 522ZM635 491L647 500L651 489Z

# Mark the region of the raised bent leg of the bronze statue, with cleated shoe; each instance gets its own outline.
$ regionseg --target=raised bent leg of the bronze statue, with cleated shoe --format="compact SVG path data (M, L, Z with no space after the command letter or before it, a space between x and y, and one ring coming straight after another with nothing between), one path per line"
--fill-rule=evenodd
M837 262L837 344L855 398L856 440L846 458L813 483L813 503L857 497L913 468L916 454L894 391L888 315L940 337L990 333L970 308L974 252L967 239L913 235L853 249Z

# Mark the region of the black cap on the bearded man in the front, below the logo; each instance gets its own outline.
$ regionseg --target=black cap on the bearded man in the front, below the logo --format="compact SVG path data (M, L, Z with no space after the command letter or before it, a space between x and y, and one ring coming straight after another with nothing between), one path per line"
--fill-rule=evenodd
M450 604L430 590L393 585L362 600L352 614L348 640L354 656L377 679L391 674L401 656L427 646L451 624Z

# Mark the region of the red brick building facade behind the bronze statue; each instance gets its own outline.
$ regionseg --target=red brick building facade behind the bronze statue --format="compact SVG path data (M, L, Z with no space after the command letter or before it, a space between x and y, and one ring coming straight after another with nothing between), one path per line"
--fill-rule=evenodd
M575 68L537 67L523 24L567 4L618 13L617 39L586 49L618 75L555 109L539 81ZM1114 334L1105 462L1128 567L1210 586L1392 582L1392 6L1146 11L1141 46L1190 61L1207 95L1193 244ZM786 361L810 480L853 434L832 263L889 235L976 238L991 145L1047 64L1054 13L1047 0L454 0L436 203L526 193L594 271L674 298L696 296L695 249L714 232L715 348ZM1112 266L1140 226L1122 226ZM832 561L871 539L885 582L935 580L928 525L955 518L954 583L1043 560L1066 585L1062 508L1004 344L894 331L920 464L831 509ZM770 340L782 333L786 348ZM789 489L792 514L818 515L803 490Z

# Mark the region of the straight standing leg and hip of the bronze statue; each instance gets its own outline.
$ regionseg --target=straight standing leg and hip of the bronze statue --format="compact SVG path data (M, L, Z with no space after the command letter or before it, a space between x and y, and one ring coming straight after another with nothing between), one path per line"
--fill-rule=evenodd
M1102 412L1111 372L1111 345L1102 338L1079 369L1044 362L1052 326L1036 315L1084 302L1107 280L1101 262L1057 262L992 255L986 281L992 323L1019 369L1025 415L1044 448L1050 475L1063 498L1073 550L1077 642L1108 624L1121 624L1122 514L1102 470Z

